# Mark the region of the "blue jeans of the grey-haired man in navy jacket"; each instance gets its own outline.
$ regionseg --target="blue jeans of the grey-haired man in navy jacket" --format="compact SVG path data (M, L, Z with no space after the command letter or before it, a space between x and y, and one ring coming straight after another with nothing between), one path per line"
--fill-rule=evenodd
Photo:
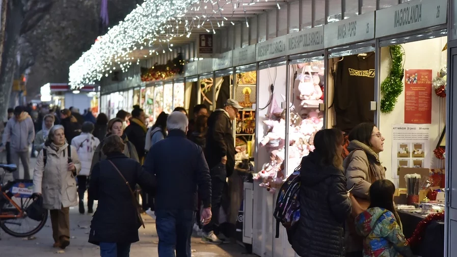
M159 257L191 257L194 210L156 210ZM176 255L175 255L176 250Z

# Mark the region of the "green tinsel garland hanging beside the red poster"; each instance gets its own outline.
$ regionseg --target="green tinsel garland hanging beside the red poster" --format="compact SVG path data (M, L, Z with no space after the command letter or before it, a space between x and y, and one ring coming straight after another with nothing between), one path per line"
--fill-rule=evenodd
M404 55L405 50L401 45L390 46L390 56L392 58L390 75L381 83L381 93L383 93L383 99L381 99L381 112L383 113L390 113L393 110L397 103L398 96L403 91Z

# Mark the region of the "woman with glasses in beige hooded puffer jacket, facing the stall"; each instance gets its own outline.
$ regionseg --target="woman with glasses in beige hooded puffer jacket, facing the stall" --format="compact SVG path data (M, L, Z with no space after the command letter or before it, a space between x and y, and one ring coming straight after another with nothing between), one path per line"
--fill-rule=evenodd
M347 188L366 210L370 205L369 189L371 183L385 179L386 170L379 160L379 153L384 150L384 137L373 123L361 123L349 133L347 150L350 154L344 159L343 167L347 179ZM357 235L354 219L349 219L345 231L347 257L362 256L363 239Z

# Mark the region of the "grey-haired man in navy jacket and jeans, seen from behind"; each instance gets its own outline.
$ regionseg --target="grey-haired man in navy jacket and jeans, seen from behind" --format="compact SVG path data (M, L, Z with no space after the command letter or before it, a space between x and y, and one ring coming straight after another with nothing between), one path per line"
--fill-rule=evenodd
M167 119L168 137L148 152L144 169L156 176L158 256L191 257L191 236L197 193L203 203L203 223L211 219L211 178L202 149L185 137L189 121L174 111Z

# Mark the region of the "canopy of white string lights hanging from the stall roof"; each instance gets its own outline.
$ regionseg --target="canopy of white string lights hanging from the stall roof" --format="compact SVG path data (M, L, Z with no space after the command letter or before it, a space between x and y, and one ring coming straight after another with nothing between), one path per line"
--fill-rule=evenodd
M80 89L113 71L125 71L140 61L133 51L142 58L173 51L173 39L190 38L194 30L216 34L240 16L249 27L250 10L260 1L281 8L277 0L145 0L70 66L70 87Z

